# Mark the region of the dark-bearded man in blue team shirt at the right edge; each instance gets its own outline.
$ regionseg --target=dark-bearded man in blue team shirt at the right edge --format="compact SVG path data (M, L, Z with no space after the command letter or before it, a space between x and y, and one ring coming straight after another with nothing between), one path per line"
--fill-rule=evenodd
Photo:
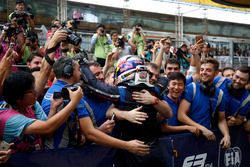
M249 75L248 67L239 67L232 80L219 76L214 79L214 84L223 90L226 97L225 111L228 126L242 124L250 108L250 95L245 89Z

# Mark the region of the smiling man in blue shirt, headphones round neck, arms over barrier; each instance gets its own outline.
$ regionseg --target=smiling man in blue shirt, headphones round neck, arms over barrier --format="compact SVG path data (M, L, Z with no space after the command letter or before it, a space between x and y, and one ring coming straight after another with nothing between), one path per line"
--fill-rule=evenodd
M225 119L225 100L223 92L213 85L218 68L219 63L213 58L201 62L201 82L187 86L184 99L179 106L178 120L197 127L208 140L215 140L211 125L218 125L223 134L220 143L224 148L228 148L230 136ZM217 114L218 122L214 117Z

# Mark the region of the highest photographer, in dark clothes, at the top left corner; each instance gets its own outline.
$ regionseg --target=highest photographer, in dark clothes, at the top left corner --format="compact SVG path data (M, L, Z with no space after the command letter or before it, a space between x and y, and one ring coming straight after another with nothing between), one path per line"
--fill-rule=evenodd
M13 19L17 21L18 26L22 27L25 32L34 30L34 16L26 11L24 0L16 0L16 9L9 15L9 20Z

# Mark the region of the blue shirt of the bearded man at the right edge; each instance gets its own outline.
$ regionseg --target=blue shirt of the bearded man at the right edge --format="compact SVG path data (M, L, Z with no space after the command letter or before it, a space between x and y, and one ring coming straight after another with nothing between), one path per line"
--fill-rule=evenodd
M233 94L229 90L229 85L232 84L232 81L228 78L224 77L216 77L214 79L214 84L216 85L218 82L221 82L221 84L218 85L218 88L222 89L225 95L225 106L226 106L226 116L232 116L236 113L246 116L247 112L250 108L250 101L246 103L246 105L242 108L240 108L241 104L245 99L248 98L249 92L246 89L241 89L237 94ZM238 110L240 108L240 110Z

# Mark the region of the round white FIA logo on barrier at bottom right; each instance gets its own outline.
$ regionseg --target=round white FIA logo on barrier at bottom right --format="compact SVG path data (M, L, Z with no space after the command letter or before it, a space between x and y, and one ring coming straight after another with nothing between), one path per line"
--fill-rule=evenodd
M224 155L225 167L239 167L241 158L241 150L239 147L227 149Z

